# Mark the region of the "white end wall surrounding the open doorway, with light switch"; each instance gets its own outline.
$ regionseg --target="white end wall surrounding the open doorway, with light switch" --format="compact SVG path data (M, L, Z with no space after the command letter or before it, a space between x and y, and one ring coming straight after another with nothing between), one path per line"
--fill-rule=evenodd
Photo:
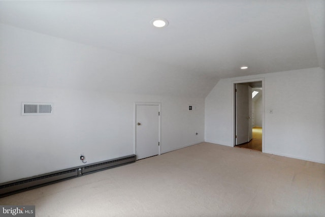
M221 79L205 100L205 141L233 146L233 82L258 78L265 80L264 152L325 163L321 68Z

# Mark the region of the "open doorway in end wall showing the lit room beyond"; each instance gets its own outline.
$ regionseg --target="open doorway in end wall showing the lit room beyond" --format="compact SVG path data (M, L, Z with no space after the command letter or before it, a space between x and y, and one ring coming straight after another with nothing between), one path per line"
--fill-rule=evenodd
M263 151L262 81L235 83L235 146Z

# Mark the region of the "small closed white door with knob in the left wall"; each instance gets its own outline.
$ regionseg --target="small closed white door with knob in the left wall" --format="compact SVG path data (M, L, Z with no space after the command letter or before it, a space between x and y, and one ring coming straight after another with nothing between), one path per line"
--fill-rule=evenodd
M159 153L159 106L136 105L137 159Z

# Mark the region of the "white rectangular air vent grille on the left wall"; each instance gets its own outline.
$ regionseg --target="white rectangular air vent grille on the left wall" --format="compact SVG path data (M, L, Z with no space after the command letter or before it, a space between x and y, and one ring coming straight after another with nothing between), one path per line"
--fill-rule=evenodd
M53 103L21 103L21 115L52 114Z

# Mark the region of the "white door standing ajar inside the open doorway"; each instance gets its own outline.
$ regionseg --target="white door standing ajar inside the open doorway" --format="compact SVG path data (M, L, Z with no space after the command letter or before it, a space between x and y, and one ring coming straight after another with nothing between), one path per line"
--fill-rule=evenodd
M249 142L248 85L236 84L236 145ZM251 98L251 96L250 96Z

